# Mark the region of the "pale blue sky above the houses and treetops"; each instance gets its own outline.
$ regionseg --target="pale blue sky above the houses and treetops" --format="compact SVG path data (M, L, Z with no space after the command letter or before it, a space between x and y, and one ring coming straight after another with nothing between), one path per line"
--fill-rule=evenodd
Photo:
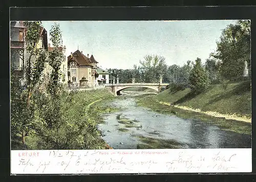
M221 30L236 20L180 21L57 21L67 56L79 50L91 54L102 68L131 69L147 54L165 57L168 65L183 65L216 50ZM48 31L54 21L42 21Z

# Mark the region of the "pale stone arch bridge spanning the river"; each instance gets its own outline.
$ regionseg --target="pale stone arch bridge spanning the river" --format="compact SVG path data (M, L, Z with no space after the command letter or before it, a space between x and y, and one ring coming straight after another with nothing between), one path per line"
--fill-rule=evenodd
M130 87L146 87L160 92L162 87L166 87L168 83L116 83L116 84L105 84L105 87L113 92L116 96L120 95L120 91Z

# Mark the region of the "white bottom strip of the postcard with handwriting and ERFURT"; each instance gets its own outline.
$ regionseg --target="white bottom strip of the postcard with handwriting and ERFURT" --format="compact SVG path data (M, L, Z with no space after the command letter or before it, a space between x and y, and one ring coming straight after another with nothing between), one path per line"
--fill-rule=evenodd
M11 150L11 175L252 172L251 153L251 148Z

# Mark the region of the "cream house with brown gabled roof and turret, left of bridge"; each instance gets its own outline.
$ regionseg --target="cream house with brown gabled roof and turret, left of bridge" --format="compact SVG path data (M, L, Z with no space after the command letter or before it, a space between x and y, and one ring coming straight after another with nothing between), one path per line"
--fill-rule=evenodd
M68 80L71 86L80 86L81 81L84 83L82 86L97 86L95 79L97 63L93 55L89 58L89 54L85 56L79 50L71 53L68 56Z

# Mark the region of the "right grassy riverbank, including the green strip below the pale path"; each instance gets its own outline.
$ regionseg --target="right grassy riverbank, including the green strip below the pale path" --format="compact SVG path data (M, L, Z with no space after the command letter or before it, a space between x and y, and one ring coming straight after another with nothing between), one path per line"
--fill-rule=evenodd
M204 113L195 112L191 110L184 110L172 105L164 105L159 103L159 101L163 101L176 104L179 103L179 105L194 108L198 106L196 108L200 108L202 110L205 109L204 105L207 105L206 103L209 103L209 105L206 108L211 109L212 111L218 111L222 113L236 113L239 115L248 116L250 113L248 108L250 105L250 92L247 92L246 90L244 92L240 92L240 96L242 98L239 98L237 95L238 90L241 89L241 87L243 87L244 84L245 83L230 84L228 85L227 90L221 89L221 85L213 85L210 89L207 90L207 92L190 98L188 97L190 93L189 89L185 89L177 93L170 93L169 90L166 89L164 90L164 92L160 93L157 96L137 97L137 104L151 108L154 111L164 113L167 115L176 115L184 119L194 119L214 124L220 126L223 130L251 134L250 123L236 120L227 120L225 118L217 118L214 116L206 115ZM231 95L231 93L233 94ZM216 99L220 97L223 99ZM215 102L210 102L212 99L215 100ZM241 105L245 108L238 108L236 106L236 103L232 103L233 100L241 102Z

